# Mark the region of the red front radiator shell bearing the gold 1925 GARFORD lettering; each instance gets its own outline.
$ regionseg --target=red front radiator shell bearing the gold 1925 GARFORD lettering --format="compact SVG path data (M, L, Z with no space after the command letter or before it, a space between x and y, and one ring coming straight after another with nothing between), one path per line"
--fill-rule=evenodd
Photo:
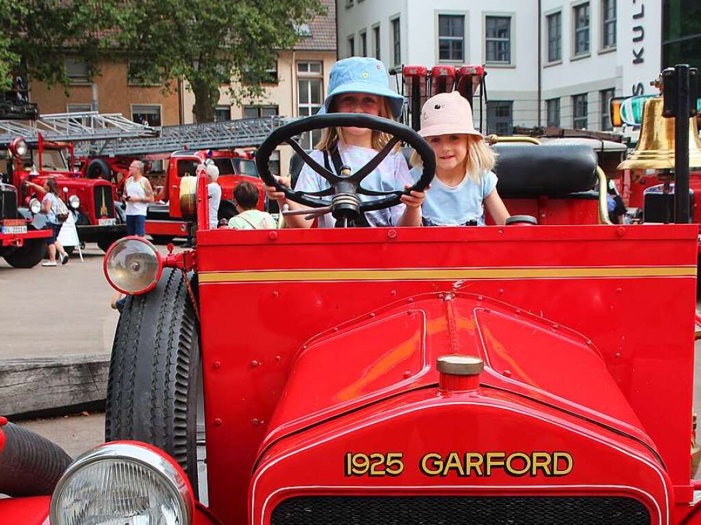
M400 452L399 475L348 475L347 454ZM486 467L442 470L426 454L455 452L561 453L554 470L523 472L526 460L512 459L510 472ZM571 463L564 454L571 456ZM379 463L379 462L378 462ZM423 464L423 468L422 468ZM310 468L313 465L313 468ZM443 465L444 466L444 465ZM392 470L399 470L392 468ZM522 473L519 475L518 472ZM352 472L352 471L351 471ZM362 472L362 470L360 470ZM469 474L469 475L468 475ZM250 486L250 523L267 523L280 500L295 495L480 495L575 496L608 494L636 498L651 524L667 521L672 486L662 465L637 442L587 421L489 388L442 396L425 388L315 426L275 444L257 461Z

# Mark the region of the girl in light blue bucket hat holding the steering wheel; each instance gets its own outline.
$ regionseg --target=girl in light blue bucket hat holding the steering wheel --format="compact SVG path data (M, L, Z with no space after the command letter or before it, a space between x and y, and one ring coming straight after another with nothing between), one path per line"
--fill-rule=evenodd
M319 113L364 113L383 118L397 118L402 112L404 97L390 90L385 66L379 60L367 57L351 57L339 60L329 74L329 94ZM338 147L343 164L358 170L367 164L391 137L386 133L366 128L328 128L316 144L310 156L324 164L324 152L327 155ZM280 184L290 185L290 177L278 177ZM399 149L390 152L383 161L362 182L366 189L376 191L396 191L407 189L413 184L409 167ZM322 191L329 187L326 179L318 175L308 165L302 168L297 184L297 191ZM273 186L266 186L268 198L275 199L283 209L285 204L290 210L304 209L304 205L293 203L285 194L276 191ZM425 197L423 191L411 191L411 195L402 196L402 203L386 208L365 212L369 226L421 226L421 203ZM373 197L359 196L361 200ZM288 226L309 228L313 219L304 215L285 217ZM330 213L318 218L319 228L333 228L335 220Z

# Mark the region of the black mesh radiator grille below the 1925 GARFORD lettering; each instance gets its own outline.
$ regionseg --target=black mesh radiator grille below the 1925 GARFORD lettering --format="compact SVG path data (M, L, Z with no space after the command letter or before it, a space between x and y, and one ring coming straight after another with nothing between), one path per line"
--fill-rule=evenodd
M283 500L271 525L650 525L619 497L304 496Z

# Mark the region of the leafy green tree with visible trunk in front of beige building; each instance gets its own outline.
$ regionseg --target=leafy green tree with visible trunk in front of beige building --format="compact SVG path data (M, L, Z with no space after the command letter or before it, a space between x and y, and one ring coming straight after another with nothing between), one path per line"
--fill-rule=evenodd
M199 122L210 122L219 86L229 84L235 103L263 93L261 80L290 49L296 30L325 11L320 0L141 0L128 2L118 46L142 67L132 74L170 89L186 79Z

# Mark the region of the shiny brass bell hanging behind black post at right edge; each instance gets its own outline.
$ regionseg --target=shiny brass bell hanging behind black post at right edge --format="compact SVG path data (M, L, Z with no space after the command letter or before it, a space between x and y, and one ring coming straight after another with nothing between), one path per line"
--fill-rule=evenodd
M689 167L701 167L695 117L689 118ZM645 101L638 144L618 170L674 170L674 118L662 116L662 97Z

